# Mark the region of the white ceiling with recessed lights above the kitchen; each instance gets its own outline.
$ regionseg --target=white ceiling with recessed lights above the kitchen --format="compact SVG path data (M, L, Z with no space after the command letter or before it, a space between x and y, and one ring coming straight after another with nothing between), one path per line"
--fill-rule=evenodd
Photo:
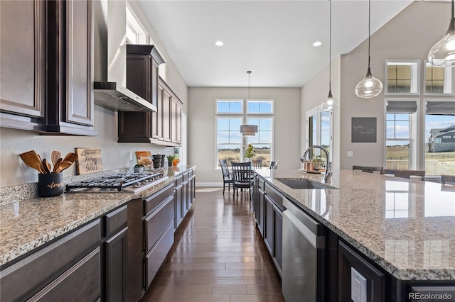
M251 86L301 87L328 65L326 0L139 3L188 86L247 86L252 70ZM372 1L371 32L411 3ZM368 1L333 1L332 59L366 38Z

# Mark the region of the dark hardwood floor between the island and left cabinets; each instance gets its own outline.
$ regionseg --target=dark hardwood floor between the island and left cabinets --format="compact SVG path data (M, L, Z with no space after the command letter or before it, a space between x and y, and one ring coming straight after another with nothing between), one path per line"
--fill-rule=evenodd
M196 188L175 238L141 302L284 301L247 193Z

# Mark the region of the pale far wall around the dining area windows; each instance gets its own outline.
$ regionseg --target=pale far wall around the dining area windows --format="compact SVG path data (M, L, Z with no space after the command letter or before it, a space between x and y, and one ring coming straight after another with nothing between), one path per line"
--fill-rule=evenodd
M274 160L279 169L298 169L300 148L299 88L251 88L251 99L274 99ZM188 88L188 164L198 166L198 183L222 182L215 169L215 99L245 99L247 89Z

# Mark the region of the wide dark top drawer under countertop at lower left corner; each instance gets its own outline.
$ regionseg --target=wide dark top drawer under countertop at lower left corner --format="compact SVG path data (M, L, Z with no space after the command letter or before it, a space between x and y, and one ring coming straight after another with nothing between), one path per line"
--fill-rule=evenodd
M87 250L100 245L100 219L57 240L26 259L3 269L0 277L1 300L16 301L38 286L61 274Z

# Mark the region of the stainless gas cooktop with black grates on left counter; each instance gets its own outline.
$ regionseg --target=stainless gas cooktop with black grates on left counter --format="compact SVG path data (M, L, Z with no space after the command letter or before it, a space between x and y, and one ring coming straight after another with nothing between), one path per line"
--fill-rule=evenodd
M166 178L159 172L114 174L67 184L66 191L129 191L135 193L154 186Z

